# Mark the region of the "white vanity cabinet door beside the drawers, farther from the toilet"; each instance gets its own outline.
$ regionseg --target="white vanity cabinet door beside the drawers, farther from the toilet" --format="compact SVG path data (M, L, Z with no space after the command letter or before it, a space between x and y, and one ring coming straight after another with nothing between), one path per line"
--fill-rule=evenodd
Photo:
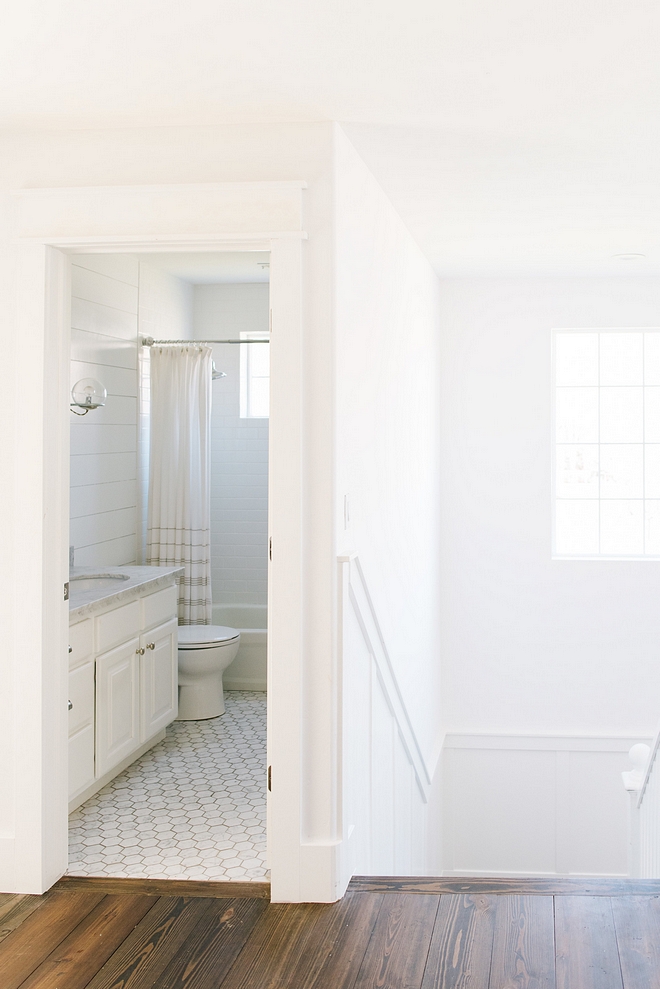
M140 640L129 639L96 659L96 776L140 744Z

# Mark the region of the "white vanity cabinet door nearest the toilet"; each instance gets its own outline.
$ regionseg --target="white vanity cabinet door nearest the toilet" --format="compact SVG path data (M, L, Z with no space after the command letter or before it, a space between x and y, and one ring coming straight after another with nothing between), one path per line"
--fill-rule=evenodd
M140 741L159 732L177 716L178 632L176 618L140 636L140 695L142 706Z

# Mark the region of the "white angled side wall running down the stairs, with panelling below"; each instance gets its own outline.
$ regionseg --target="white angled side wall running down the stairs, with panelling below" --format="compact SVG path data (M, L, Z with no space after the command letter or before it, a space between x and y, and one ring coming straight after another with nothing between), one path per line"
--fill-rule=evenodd
M377 628L370 644L360 618L369 609L347 604L344 824L355 826L350 856L358 873L425 873L438 868L440 834L435 818L429 827L401 722L411 726L431 790L442 741L440 286L341 132L335 163L336 543L338 552L359 555ZM379 642L391 664L389 686L374 660Z

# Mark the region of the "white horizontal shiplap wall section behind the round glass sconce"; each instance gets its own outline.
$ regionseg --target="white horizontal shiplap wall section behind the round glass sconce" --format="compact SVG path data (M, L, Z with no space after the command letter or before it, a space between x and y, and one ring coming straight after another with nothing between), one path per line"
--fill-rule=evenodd
M71 384L97 378L104 408L71 413L71 529L79 566L136 559L137 259L76 255L71 265Z

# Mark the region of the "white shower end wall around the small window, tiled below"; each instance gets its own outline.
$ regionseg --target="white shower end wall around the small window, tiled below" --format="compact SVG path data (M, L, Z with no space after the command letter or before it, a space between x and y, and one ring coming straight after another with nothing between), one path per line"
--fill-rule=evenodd
M194 337L267 336L268 297L267 283L196 285ZM215 605L265 605L268 591L268 419L240 417L240 350L233 344L213 347L216 367L227 375L213 383L211 410Z

